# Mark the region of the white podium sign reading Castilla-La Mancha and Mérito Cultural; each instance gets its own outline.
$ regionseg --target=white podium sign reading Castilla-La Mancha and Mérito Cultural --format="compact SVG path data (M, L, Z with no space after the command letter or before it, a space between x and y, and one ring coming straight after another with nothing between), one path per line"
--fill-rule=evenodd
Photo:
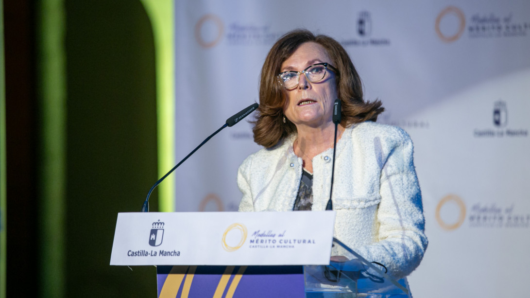
M333 211L119 213L110 265L328 265Z

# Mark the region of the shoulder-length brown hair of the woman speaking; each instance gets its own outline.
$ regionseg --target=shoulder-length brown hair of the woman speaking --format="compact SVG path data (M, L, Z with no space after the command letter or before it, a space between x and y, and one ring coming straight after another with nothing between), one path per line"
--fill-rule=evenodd
M293 123L283 122L287 95L276 76L280 73L281 64L305 42L316 42L323 46L331 58L329 63L339 71L335 82L337 82L337 95L342 104L340 122L342 126L348 127L366 120L375 121L377 115L384 110L379 100L373 102L363 100L361 79L348 53L339 42L329 36L315 36L308 30L293 30L276 41L261 68L260 107L253 128L254 142L259 145L270 148L296 132Z

